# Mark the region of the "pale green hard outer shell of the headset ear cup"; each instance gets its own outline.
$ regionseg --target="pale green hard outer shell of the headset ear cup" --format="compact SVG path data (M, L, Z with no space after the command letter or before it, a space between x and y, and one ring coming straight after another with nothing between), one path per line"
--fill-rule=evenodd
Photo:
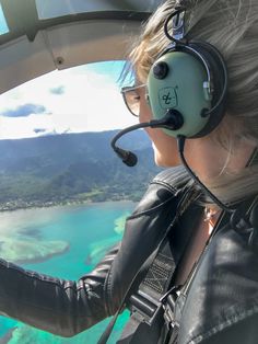
M211 110L207 83L206 68L188 51L168 50L152 66L146 89L153 117L161 119L175 110L184 122L178 129L165 129L167 135L194 137L202 130L209 119L203 114Z

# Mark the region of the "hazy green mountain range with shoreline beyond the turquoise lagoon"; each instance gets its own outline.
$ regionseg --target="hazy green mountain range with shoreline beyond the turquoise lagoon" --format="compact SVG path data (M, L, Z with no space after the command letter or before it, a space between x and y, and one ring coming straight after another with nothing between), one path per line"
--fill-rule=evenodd
M63 134L0 140L0 210L70 202L138 200L159 172L145 133L119 146L137 153L133 168L110 148L117 131Z

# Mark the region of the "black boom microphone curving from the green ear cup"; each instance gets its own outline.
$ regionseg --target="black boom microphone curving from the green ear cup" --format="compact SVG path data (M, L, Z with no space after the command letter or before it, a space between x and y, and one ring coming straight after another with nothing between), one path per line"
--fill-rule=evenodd
M181 114L176 110L168 110L165 116L162 119L152 119L150 122L134 124L124 130L120 130L112 140L110 145L118 158L122 160L122 162L128 167L134 167L138 162L137 156L130 150L125 150L118 146L116 146L117 140L126 135L127 133L151 127L151 128L166 128L169 130L177 130L184 124L184 119Z

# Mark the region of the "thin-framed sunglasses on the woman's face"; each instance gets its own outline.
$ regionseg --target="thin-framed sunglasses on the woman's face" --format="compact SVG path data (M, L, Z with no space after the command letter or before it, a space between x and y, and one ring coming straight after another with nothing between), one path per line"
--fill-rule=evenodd
M127 108L130 113L139 117L140 114L140 89L145 88L145 84L140 84L137 87L125 87L121 88L121 94Z

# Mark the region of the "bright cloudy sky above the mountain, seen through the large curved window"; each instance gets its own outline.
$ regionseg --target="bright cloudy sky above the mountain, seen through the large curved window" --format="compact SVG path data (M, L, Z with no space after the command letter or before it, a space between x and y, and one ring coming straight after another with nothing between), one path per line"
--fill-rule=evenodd
M0 139L120 129L136 124L124 104L122 61L54 71L0 95ZM125 84L132 84L127 79Z

